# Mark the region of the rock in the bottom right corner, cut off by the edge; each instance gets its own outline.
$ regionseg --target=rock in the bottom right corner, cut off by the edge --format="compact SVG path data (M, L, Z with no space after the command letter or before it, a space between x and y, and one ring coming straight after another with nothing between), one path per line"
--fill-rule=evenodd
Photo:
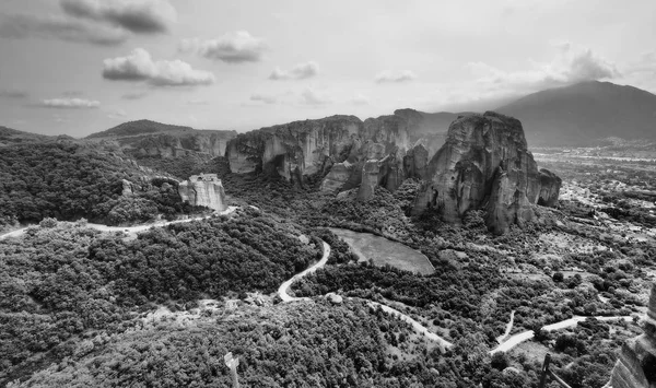
M624 343L612 369L609 386L611 388L656 387L656 283L652 284L644 334Z

